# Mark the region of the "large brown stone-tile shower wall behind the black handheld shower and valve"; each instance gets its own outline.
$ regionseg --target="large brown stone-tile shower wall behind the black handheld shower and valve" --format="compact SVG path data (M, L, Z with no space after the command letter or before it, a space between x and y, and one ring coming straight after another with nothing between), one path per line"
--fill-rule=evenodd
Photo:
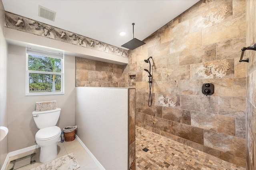
M136 125L245 167L245 18L245 0L201 0L129 51L122 86L136 76ZM211 96L201 92L207 82Z

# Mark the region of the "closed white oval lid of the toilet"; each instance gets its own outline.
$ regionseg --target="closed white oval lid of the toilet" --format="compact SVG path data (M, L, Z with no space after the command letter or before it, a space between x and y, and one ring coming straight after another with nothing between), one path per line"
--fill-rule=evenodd
M61 134L61 130L58 126L52 126L43 128L36 132L36 139L38 140L50 140Z

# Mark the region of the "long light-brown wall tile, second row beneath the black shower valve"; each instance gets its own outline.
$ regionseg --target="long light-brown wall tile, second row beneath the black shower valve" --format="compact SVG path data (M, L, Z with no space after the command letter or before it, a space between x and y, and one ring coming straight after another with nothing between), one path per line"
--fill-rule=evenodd
M206 130L236 136L235 118L230 116L192 111L191 125Z

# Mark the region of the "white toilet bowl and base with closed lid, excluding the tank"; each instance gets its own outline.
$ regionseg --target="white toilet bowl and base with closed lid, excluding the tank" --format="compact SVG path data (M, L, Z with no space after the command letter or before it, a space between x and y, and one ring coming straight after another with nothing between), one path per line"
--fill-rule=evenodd
M54 160L58 154L57 143L61 130L58 126L43 128L36 132L36 143L40 146L39 160L42 163Z

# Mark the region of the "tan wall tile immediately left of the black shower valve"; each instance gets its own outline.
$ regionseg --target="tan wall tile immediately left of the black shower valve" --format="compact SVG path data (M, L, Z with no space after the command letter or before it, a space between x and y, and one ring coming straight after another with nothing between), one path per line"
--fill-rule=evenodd
M203 80L173 80L170 82L171 94L202 95Z

